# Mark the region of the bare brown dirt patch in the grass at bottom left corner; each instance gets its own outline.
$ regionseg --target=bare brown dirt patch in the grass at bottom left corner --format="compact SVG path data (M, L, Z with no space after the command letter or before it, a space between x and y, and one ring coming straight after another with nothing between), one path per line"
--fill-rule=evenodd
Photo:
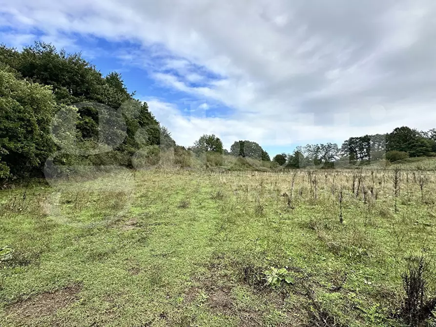
M80 285L72 285L58 291L36 295L6 307L6 316L14 317L17 320L27 320L52 315L57 310L74 303L78 299L77 294L81 289Z

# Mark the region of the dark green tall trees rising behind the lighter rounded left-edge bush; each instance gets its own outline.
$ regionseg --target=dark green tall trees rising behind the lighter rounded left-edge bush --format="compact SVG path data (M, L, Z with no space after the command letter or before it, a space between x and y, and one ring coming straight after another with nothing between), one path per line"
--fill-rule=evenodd
M80 53L66 54L42 42L22 51L0 45L0 68L17 79L49 85L58 106L74 104L79 114L75 123L78 146L83 143L82 147L90 152L93 147L106 144L125 158L124 154L131 157L142 146L175 145L147 103L134 99L134 92L128 92L121 74L112 72L104 77ZM4 161L10 155L5 154L6 149L1 151ZM122 164L130 163L125 158Z

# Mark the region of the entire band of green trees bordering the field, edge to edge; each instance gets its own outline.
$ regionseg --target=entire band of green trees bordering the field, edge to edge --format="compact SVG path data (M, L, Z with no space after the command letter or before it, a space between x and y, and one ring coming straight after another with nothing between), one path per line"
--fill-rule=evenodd
M67 121L74 123L72 128ZM81 53L67 54L43 42L21 51L0 45L0 180L40 176L50 157L64 166L131 167L132 158L148 158L161 149L181 156L212 152L271 161L256 142L237 140L227 150L214 134L187 148L177 145L147 103L128 91L121 74L103 76ZM349 138L340 147L298 146L272 161L298 168L435 153L435 128L424 132L402 126L391 133Z

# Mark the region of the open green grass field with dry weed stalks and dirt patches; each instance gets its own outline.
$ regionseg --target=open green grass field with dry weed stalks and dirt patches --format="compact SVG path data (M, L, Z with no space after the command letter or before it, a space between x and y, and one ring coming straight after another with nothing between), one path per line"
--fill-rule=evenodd
M392 174L122 170L2 190L0 326L405 326L436 174L401 172L397 212ZM270 267L290 283L266 285Z

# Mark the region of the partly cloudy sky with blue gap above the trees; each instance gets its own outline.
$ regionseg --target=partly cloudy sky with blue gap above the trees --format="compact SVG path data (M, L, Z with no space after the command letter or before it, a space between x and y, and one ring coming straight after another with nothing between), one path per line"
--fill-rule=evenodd
M0 0L0 42L122 73L176 143L297 145L436 127L434 0Z

